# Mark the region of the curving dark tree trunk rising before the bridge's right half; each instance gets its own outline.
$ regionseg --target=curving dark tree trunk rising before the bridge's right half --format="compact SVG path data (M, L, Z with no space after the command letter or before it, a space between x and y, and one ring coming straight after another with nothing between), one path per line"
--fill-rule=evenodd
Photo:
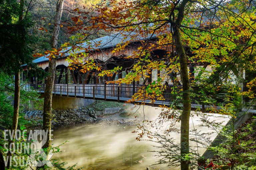
M182 114L180 116L181 121L181 135L180 135L180 165L181 170L189 170L189 160L184 160L184 156L189 154L189 117L191 111L191 101L190 101L190 92L189 92L189 75L187 67L187 57L184 46L182 44L181 35L180 35L180 25L184 17L184 9L189 0L183 0L178 9L178 16L175 23L172 23L173 28L173 38L175 41L176 51L180 59L180 75L182 81Z

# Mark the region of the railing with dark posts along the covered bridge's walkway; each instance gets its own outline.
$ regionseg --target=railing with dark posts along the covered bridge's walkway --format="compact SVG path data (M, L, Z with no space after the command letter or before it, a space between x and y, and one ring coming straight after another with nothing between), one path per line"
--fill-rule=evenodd
M113 99L116 101L129 100L138 92L140 84L54 84L53 95L68 97L82 97L92 99ZM45 84L30 84L25 86L27 90L35 89L39 93L44 93ZM171 88L167 88L164 98L168 101Z

